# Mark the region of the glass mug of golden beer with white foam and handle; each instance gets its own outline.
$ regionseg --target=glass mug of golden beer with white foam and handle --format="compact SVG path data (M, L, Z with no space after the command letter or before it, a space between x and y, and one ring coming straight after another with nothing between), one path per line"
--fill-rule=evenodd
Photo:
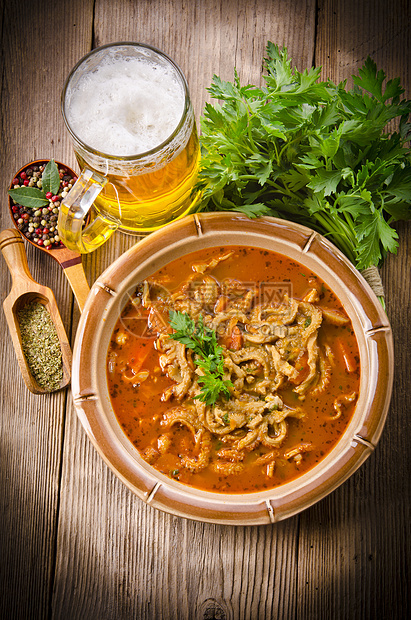
M194 209L193 106L166 54L128 42L96 48L67 78L62 112L82 171L59 210L68 248L92 252L115 230L144 235Z

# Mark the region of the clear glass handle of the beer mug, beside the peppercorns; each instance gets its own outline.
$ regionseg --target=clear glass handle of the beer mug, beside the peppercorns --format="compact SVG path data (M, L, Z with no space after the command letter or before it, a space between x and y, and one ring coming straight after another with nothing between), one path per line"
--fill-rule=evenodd
M70 250L81 254L93 252L117 230L116 222L105 219L94 209L90 211L106 183L106 177L86 168L61 202L57 228L60 239Z

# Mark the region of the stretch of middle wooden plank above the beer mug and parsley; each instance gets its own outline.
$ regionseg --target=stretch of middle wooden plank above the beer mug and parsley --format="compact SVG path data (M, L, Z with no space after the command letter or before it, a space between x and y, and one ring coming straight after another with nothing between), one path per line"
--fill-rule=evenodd
M315 2L300 0L121 0L96 2L95 44L141 41L169 54L183 70L197 119L216 73L261 82L267 41L287 45L301 69L312 62ZM110 18L107 19L107 16Z

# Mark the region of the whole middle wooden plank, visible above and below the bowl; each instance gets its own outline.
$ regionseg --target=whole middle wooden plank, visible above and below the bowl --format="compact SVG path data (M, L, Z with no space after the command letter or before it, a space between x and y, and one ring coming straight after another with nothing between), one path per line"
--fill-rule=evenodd
M268 39L295 62L314 52L313 3L97 2L95 44L151 43L187 76L197 118L213 73L261 80ZM85 257L91 279L133 242L116 235ZM144 505L111 474L70 408L59 513L53 617L293 617L298 517L274 527L233 528L175 518Z

